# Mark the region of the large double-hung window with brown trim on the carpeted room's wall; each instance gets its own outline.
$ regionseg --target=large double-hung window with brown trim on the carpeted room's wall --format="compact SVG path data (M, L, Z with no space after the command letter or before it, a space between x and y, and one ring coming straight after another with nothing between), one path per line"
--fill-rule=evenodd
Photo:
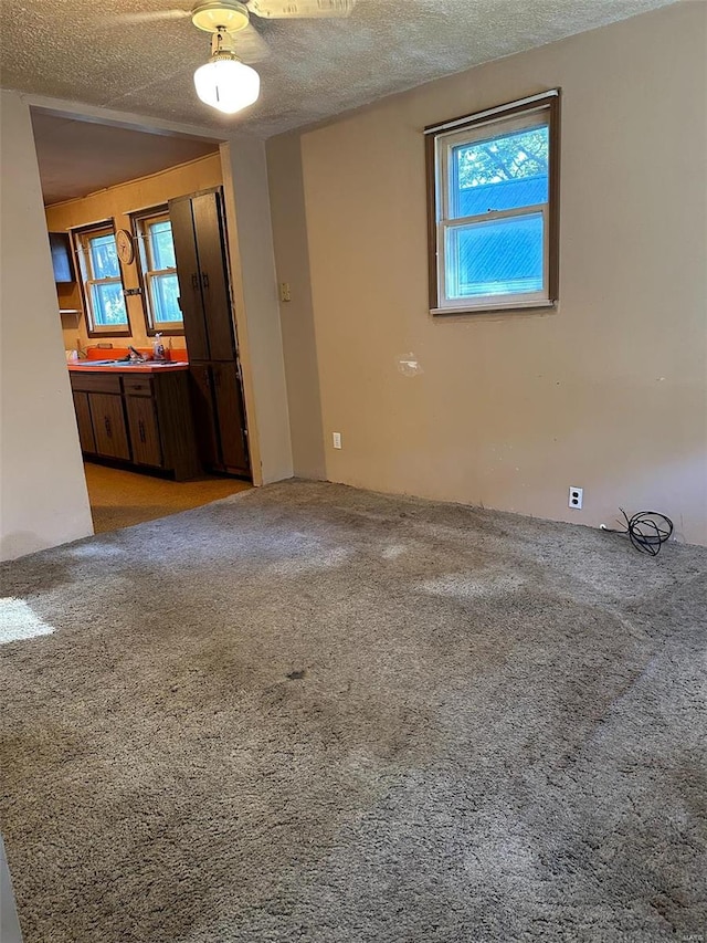
M558 297L559 91L425 129L433 314Z

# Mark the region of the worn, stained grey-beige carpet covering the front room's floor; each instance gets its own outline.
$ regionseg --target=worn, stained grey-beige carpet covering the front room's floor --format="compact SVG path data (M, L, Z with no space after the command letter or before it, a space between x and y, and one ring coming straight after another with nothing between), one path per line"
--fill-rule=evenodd
M705 939L707 551L291 482L1 575L25 943Z

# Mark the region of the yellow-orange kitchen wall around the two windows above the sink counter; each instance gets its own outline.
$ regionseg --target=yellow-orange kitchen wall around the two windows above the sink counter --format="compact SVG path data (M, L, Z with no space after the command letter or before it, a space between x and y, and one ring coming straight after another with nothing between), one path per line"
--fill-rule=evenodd
M208 157L171 167L149 177L108 187L83 199L67 200L64 203L48 207L46 226L51 232L64 232L92 222L114 219L116 229L129 231L129 212L166 203L173 197L218 187L221 182L221 158L217 151ZM123 282L126 289L139 286L137 266L137 256L130 265L123 266ZM57 285L57 296L61 307L83 310L78 284ZM151 347L152 338L147 336L141 297L130 295L126 298L126 303L130 322L130 337L112 338L106 335L105 337L89 338L83 314L64 314L61 315L61 319L65 349L75 349L77 344L85 347L87 344L97 344L104 340L112 340L115 346L120 347L126 344L134 344L137 347ZM166 344L167 346L183 347L184 338L173 335L166 338Z

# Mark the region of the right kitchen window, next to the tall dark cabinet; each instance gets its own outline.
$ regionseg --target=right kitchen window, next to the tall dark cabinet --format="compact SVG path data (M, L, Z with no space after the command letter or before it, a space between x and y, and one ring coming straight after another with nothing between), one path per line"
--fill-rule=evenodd
M133 217L138 237L147 333L183 334L172 224L165 208Z

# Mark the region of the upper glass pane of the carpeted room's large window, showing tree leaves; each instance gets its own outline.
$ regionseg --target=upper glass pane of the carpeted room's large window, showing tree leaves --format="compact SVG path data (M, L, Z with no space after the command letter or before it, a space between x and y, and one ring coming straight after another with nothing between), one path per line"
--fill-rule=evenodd
M450 219L548 201L547 125L451 149Z

